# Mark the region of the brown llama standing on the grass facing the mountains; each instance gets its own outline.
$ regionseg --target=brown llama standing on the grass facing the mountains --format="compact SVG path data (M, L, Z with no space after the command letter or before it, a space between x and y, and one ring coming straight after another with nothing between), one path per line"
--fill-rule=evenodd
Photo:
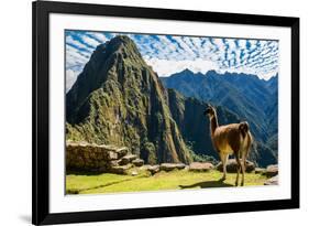
M244 184L245 161L253 142L253 137L249 130L249 123L242 121L240 123L230 123L224 126L218 125L216 109L208 105L205 115L210 120L210 134L213 148L218 151L223 166L223 176L220 181L227 177L227 161L230 154L234 154L238 163L238 175L235 185L239 185L239 174L242 171L241 185Z

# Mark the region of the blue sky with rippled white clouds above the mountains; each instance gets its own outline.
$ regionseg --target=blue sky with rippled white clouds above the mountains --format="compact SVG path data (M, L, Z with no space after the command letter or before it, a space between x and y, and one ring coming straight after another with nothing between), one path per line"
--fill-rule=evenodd
M76 80L97 45L120 33L66 31L66 89ZM158 76L188 68L255 74L268 79L278 73L278 42L223 37L126 34Z

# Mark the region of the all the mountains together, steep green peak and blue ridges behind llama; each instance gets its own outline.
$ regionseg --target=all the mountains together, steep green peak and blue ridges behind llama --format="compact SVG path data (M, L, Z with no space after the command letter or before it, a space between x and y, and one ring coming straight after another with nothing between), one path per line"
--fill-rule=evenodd
M159 78L124 35L100 44L66 94L66 139L126 146L146 163L218 159L202 112L217 106L220 123L247 120L258 142L251 159L277 161L277 76L194 74ZM271 126L272 127L271 127Z

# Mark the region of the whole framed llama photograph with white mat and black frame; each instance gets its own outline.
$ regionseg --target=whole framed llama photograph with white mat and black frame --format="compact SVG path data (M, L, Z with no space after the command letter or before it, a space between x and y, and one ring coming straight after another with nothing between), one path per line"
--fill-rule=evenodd
M33 224L298 207L298 18L33 2Z

